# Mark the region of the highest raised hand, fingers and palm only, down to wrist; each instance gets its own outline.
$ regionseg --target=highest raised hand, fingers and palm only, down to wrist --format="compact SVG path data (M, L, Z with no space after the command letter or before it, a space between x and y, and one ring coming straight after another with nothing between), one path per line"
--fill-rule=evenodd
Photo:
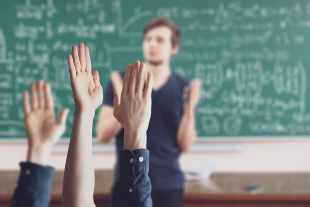
M67 58L75 110L95 111L102 104L103 88L98 71L92 71L89 48L80 43L78 52L73 46L72 56L68 54Z

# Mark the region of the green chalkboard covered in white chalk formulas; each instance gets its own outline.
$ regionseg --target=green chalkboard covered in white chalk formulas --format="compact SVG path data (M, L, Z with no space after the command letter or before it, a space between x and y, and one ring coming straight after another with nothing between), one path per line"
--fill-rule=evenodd
M90 47L104 87L143 60L143 27L158 16L182 30L171 68L203 80L201 139L310 133L310 0L12 0L0 3L0 137L25 137L21 92L39 78L56 111L71 109L69 137L70 47Z

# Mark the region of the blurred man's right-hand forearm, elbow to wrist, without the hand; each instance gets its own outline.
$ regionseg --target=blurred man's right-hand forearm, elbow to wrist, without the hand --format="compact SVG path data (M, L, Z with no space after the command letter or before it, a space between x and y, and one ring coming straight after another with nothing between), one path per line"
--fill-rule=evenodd
M185 109L177 133L180 152L187 152L197 137L195 114L193 110Z

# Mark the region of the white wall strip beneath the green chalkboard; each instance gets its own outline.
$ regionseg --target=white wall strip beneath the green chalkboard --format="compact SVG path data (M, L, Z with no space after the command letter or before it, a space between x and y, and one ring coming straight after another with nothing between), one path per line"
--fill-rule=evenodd
M214 143L205 143L212 145ZM238 144L238 143L237 143ZM194 170L204 160L218 162L215 172L310 172L310 140L241 142L243 150L195 151L204 144L196 144L189 153L181 156L184 170ZM113 144L93 153L95 169L112 169L115 162ZM97 146L98 147L98 146ZM96 148L96 145L95 145ZM100 148L100 146L99 146ZM67 144L56 147L50 164L64 169ZM19 170L18 162L25 160L27 144L0 142L0 170Z

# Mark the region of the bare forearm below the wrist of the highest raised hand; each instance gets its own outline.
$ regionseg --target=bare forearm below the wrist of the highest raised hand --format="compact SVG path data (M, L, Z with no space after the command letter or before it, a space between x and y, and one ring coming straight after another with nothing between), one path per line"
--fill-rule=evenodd
M95 175L92 160L92 126L95 110L74 112L63 179L62 206L94 206Z

